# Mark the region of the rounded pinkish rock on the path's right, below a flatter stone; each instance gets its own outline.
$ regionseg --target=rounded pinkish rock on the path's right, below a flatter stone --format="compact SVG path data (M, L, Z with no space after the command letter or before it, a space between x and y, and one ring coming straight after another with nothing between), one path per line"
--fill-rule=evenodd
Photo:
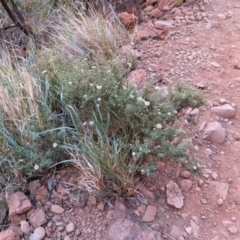
M225 129L218 122L210 122L203 133L203 139L212 143L221 144L225 140Z

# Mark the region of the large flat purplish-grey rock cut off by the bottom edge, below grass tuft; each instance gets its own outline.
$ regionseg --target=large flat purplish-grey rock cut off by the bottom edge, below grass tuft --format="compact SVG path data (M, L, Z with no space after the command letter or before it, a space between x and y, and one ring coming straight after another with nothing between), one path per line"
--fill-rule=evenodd
M111 240L159 240L160 234L149 228L142 230L140 226L128 219L119 219L109 227Z

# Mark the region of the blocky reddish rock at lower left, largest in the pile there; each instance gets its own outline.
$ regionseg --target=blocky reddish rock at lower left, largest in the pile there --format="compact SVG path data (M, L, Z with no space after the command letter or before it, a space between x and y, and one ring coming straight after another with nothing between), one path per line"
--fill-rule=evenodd
M30 200L22 192L15 192L11 194L7 199L7 204L10 217L25 213L32 208Z

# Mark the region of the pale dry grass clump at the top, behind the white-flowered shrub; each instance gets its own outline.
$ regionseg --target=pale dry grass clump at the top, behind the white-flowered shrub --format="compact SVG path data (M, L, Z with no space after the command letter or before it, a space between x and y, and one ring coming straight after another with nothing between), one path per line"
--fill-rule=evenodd
M63 10L55 32L56 46L68 56L90 57L103 63L117 57L120 47L128 41L127 33L119 23L94 10L89 15Z

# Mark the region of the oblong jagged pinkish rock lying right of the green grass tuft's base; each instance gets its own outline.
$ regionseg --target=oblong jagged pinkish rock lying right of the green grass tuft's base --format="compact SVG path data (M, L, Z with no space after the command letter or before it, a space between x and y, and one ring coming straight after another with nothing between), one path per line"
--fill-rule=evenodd
M174 181L169 181L167 184L167 203L175 208L182 208L184 204L184 196Z

